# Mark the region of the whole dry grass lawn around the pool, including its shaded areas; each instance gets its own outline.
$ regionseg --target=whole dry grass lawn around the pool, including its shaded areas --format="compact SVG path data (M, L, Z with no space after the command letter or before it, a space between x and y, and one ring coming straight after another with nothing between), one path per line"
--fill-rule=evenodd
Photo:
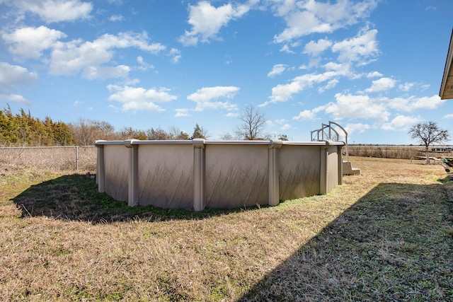
M90 175L0 168L2 301L453 301L440 165L361 175L278 207L127 208Z

